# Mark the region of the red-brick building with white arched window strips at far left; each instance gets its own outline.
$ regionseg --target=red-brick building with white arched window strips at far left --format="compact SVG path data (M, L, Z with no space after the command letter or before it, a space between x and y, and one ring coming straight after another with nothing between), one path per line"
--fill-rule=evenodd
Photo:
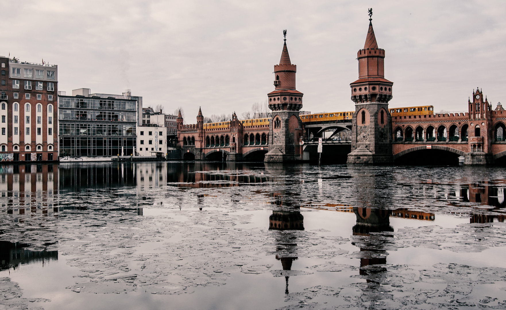
M57 160L58 66L0 56L0 161Z

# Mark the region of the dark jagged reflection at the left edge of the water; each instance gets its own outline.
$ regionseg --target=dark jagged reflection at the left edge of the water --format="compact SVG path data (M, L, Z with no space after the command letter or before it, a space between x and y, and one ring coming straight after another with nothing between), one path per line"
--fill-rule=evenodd
M58 260L58 251L31 251L28 245L19 242L0 241L0 270L16 269L20 264L47 260Z

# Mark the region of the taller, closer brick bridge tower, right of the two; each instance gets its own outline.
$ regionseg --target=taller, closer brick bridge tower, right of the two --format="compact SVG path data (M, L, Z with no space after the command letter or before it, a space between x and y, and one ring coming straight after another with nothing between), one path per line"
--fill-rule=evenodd
M369 11L372 15L372 10ZM355 102L352 119L351 153L348 163L390 163L392 157L392 117L388 102L393 82L385 79L385 50L379 49L372 18L364 48L357 52L358 80L350 83Z

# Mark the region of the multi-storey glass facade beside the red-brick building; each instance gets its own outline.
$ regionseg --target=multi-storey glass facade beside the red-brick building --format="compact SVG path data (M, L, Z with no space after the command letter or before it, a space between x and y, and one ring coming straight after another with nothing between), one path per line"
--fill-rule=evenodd
M133 154L136 107L136 100L59 97L60 156Z

